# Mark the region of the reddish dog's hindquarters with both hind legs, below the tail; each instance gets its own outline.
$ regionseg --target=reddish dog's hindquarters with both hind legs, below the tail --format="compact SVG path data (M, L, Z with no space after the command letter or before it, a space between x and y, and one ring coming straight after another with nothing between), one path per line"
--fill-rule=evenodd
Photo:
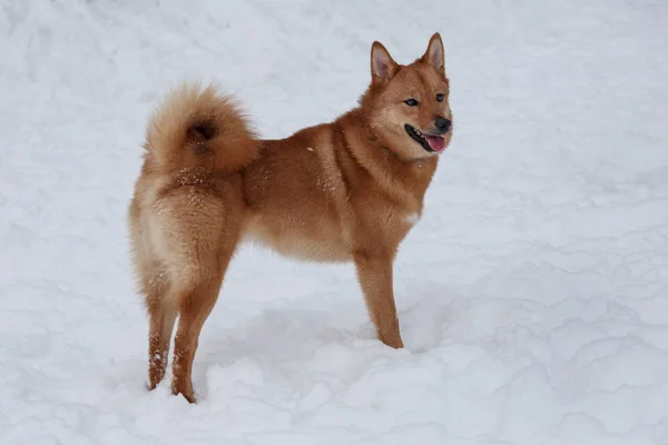
M141 276L149 278L143 283L150 326L150 386L154 388L165 376L178 315L171 389L188 402L195 402L191 369L199 334L240 238L243 196L233 180L167 189L147 218L148 248L137 249L139 256L150 260L138 261L149 266L141 269Z

